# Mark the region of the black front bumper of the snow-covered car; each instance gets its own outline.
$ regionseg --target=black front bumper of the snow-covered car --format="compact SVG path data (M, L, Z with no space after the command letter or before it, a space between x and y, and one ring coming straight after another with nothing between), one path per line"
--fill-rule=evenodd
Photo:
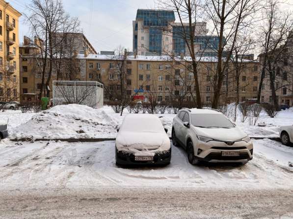
M171 148L163 153L155 153L153 161L135 161L133 153L118 151L115 148L116 163L121 165L166 165L171 161Z

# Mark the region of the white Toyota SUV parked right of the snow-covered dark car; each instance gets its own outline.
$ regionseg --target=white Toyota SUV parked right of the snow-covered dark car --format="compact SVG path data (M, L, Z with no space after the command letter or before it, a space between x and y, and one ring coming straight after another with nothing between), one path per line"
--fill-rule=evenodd
M247 163L253 145L248 135L217 110L182 109L173 119L172 143L182 145L191 164Z

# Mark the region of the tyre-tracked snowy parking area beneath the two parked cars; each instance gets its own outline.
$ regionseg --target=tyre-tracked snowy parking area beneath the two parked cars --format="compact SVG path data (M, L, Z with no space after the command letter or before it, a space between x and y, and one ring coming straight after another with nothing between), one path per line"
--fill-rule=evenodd
M274 145L275 147L271 146ZM292 188L293 148L254 140L254 158L245 165L190 165L186 152L172 146L166 167L121 168L115 142L0 142L0 188Z

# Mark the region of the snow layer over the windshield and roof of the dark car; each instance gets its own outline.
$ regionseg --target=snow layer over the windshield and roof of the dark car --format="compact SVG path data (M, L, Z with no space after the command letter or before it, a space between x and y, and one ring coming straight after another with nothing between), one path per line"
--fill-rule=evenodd
M161 132L163 126L160 119L152 114L129 114L125 116L121 131L149 131L149 132Z

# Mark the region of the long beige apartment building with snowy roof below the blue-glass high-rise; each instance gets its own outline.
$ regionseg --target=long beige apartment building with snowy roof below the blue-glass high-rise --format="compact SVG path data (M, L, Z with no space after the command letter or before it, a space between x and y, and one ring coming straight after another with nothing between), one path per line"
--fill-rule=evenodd
M117 65L125 62L126 75L124 82L128 95L134 99L148 101L150 95L156 95L158 101L193 101L195 85L189 62L172 59L168 56L128 55L126 60L113 55L79 56L86 60L87 81L99 81L104 84L105 100L113 98L120 92L120 70ZM184 57L188 60L188 57ZM213 100L213 77L217 61L214 57L205 57L198 66L201 99L205 104ZM231 66L231 69L233 67ZM222 87L221 102L236 101L235 72L230 70ZM240 73L240 101L257 97L259 81L258 62L245 60Z

